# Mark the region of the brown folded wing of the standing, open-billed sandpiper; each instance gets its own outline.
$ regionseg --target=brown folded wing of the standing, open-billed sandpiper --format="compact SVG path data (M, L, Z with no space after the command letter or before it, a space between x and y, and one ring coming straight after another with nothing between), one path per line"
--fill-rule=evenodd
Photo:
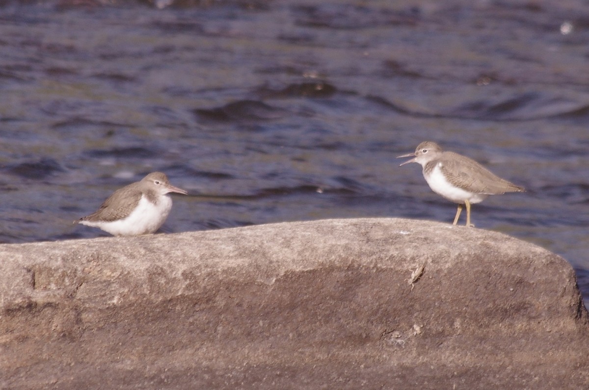
M452 184L464 186L478 194L498 195L506 192L522 192L524 187L501 179L477 161L451 151L444 152L441 170Z

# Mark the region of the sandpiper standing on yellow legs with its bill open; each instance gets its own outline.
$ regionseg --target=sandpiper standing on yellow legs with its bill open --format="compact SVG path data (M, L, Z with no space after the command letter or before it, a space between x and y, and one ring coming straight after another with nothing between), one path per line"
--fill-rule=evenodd
M401 157L414 157L400 166L408 163L420 164L429 188L449 201L458 203L454 224L458 223L463 204L466 205L466 226L472 226L471 203L479 203L489 195L525 191L524 187L501 179L472 158L442 150L435 142L422 142L415 153L403 154L397 158Z

